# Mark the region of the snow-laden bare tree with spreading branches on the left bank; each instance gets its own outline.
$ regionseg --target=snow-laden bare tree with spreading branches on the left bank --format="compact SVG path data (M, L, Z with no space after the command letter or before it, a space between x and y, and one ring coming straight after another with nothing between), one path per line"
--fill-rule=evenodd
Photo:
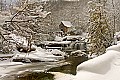
M33 28L36 26L39 27L39 19L46 18L50 13L43 11L41 8L42 6L37 5L37 3L28 3L28 0L25 0L24 2L24 5L20 6L11 20L6 22L10 23L14 30L18 32L18 35L26 38L27 45L24 46L23 44L16 43L17 48L22 48L21 50L30 52L36 34Z

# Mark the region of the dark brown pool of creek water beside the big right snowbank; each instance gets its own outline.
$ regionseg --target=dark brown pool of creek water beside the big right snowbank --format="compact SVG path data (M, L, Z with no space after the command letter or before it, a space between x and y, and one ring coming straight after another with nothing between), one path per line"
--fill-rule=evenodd
M79 57L73 57L70 56L66 61L69 62L70 64L65 64L61 65L59 67L53 67L49 69L48 71L52 72L62 72L62 73L67 73L67 74L72 74L76 75L76 68L79 64L82 62L88 60L88 57L83 55Z

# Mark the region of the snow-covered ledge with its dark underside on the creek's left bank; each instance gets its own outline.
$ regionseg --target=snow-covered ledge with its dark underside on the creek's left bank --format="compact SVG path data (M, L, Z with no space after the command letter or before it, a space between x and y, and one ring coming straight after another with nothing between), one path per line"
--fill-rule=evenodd
M61 51L59 52L58 50L55 51L56 53L63 54L63 52ZM53 55L53 52L54 50L50 52L40 47L36 47L35 51L29 53L19 52L16 50L14 51L15 55L13 56L13 61L31 63L31 62L56 62L64 59L64 55L55 56Z

